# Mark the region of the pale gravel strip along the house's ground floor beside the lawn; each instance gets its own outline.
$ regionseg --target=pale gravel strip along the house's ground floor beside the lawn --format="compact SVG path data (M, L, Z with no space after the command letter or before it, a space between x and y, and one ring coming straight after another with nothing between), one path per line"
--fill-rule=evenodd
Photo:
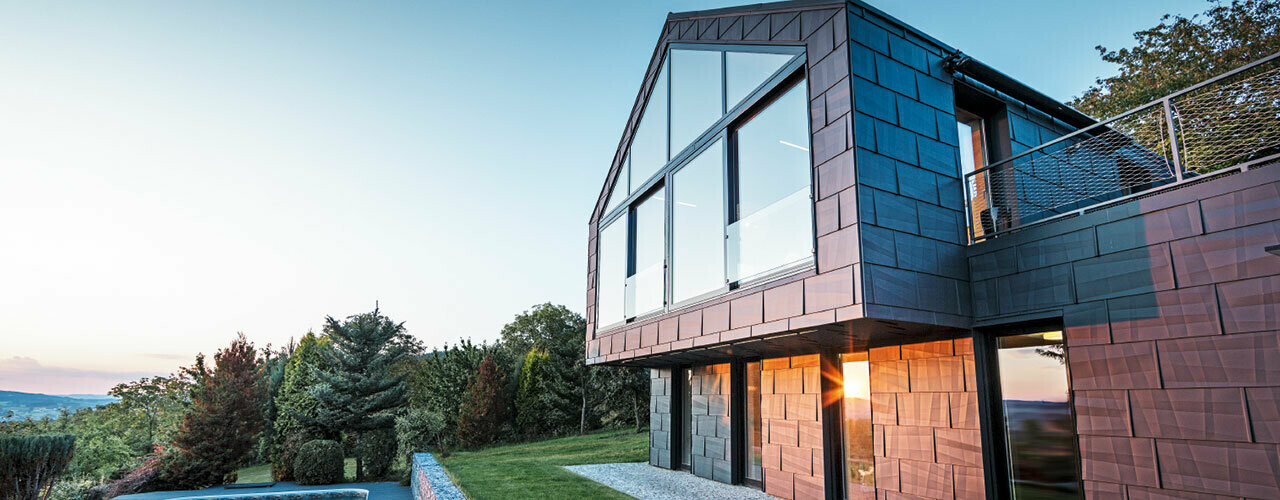
M640 500L777 500L760 490L704 480L682 471L667 471L645 462L564 468Z

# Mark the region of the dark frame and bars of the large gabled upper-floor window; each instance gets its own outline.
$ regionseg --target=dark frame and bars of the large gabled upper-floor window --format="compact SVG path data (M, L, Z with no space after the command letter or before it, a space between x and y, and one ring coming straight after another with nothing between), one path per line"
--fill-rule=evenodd
M722 114L722 116L718 120L716 120L713 124L710 124L701 134L699 134L689 145L682 145L682 146L675 146L675 145L672 145L671 143L671 81L672 81L672 75L669 74L669 68L668 68L668 75L667 75L666 81L664 82L657 82L657 74L660 74L662 72L659 69L659 72L655 73L655 77L654 77L655 82L652 83L654 86L654 91L657 91L657 86L664 84L666 88L663 91L667 92L667 98L666 98L666 102L667 102L666 130L667 130L667 150L668 150L668 156L671 157L671 160L668 160L668 162L666 165L663 165L660 169L658 169L649 179L645 179L645 180L640 182L639 184L630 183L631 185L628 185L630 189L627 192L626 198L623 198L611 212L605 212L605 214L600 215L600 219L596 221L596 229L595 229L596 230L596 253L595 254L596 254L596 258L599 258L599 256L600 256L600 253L599 253L599 231L600 231L600 228L605 228L605 226L608 226L609 224L613 224L616 220L618 220L621 217L627 217L628 220L626 221L626 224L630 225L630 228L628 228L628 235L627 235L627 244L626 244L626 248L627 248L627 262L628 262L627 263L627 266L628 266L627 269L631 270L632 269L632 261L635 260L635 229L634 229L634 226L635 226L635 215L634 215L634 206L640 199L645 198L652 191L660 189L663 192L662 196L666 199L664 201L664 203L666 203L666 221L664 221L664 225L666 225L666 242L664 242L666 249L664 249L664 262L663 262L663 281L664 281L663 283L663 288L664 288L663 307L659 308L659 309L657 309L657 311L652 311L652 312L648 312L648 313L637 315L635 317L625 317L621 322L613 322L613 324L609 324L609 325L600 325L598 322L598 320L599 320L599 308L596 308L596 311L595 311L595 318L594 318L594 320L596 320L596 326L595 326L595 331L593 332L593 338L599 338L600 332L617 330L620 327L623 327L623 326L626 326L628 324L632 324L632 322L636 322L636 321L643 321L643 320L646 320L646 318L650 318L650 317L666 315L666 313L669 313L669 312L673 312L673 311L678 311L678 309L687 308L687 307L691 307L691 306L695 306L695 304L699 304L699 303L704 303L704 302L714 299L717 297L723 297L724 294L731 293L732 290L737 290L737 289L746 288L746 286L754 286L754 285L758 285L758 284L763 284L763 283L767 283L767 281L777 280L777 279L781 279L781 277L786 277L786 276L790 276L790 275L794 275L794 274L797 274L797 272L803 272L803 271L808 271L808 270L812 270L812 269L817 267L817 253L815 252L810 252L810 258L808 258L808 260L804 260L804 261L800 261L800 262L796 262L796 263L791 263L791 265L787 265L787 266L783 266L783 267L780 267L780 269L771 270L769 272L767 272L764 275L751 276L751 277L749 277L746 280L741 280L741 281L736 281L736 283L730 283L728 279L727 279L727 276L728 276L728 269L727 269L727 266L728 266L728 248L727 248L728 247L728 240L726 238L726 242L724 242L724 257L726 257L724 258L724 266L726 266L726 269L724 269L724 276L726 276L724 286L722 286L722 288L719 288L717 290L713 290L713 292L708 292L708 293L704 293L704 294L695 295L692 298L684 299L684 301L681 301L678 303L673 303L672 302L672 297L673 297L672 295L672 267L671 267L671 261L672 261L672 237L673 237L673 234L672 234L673 228L672 228L672 220L671 220L671 217L672 217L672 203L673 203L672 196L671 196L672 194L672 192L671 192L672 175L676 171L678 171L680 169L682 169L684 166L686 166L690 161L692 161L694 159L696 159L698 155L700 155L703 151L705 151L712 145L714 145L716 141L724 141L723 142L723 147L722 147L722 151L723 151L722 155L724 157L722 159L722 162L721 162L721 165L722 165L721 168L722 168L723 174L722 174L721 178L722 178L722 184L723 184L722 189L723 189L723 199L724 199L724 228L728 228L730 220L732 220L733 217L736 217L736 210L737 210L736 208L736 198L733 198L735 194L732 193L732 192L736 192L736 162L737 162L736 161L736 152L737 152L737 147L736 147L736 139L733 137L733 136L736 136L736 133L735 133L736 129L739 127L741 127L742 124L745 124L748 120L750 120L753 116L755 116L756 114L759 114L760 111L765 110L774 101L777 101L778 97L781 97L782 95L785 95L787 91L792 90L796 84L799 84L801 82L806 83L808 78L809 78L808 64L806 64L806 61L808 61L808 54L805 52L805 47L804 46L799 46L799 45L733 45L733 43L689 43L689 42L673 42L673 43L668 43L667 47L663 50L662 60L658 63L659 68L662 68L663 65L669 64L671 51L672 50L721 51L721 58L719 58L719 60L721 60L721 109L723 110L723 114ZM790 61L787 61L786 64L783 64L781 68L778 68L771 77L768 77L764 82L762 82L754 91L751 91L750 93L748 93L748 96L744 97L741 102L737 102L732 107L730 107L728 102L726 102L726 100L727 100L727 87L726 87L727 86L727 74L726 74L726 68L724 68L724 65L726 65L724 51L791 54L792 59ZM804 92L805 92L805 100L809 101L810 96L809 96L808 84L805 84ZM652 92L650 92L650 96L652 96ZM646 97L646 101L645 101L646 104L648 104L648 98L649 97ZM641 111L641 120L643 120L643 114L648 113L648 111L649 111L648 109L644 110L644 111ZM808 109L805 110L805 113L808 114ZM808 118L808 115L806 115L806 118ZM810 155L809 155L810 231L809 233L810 233L810 239L812 239L810 248L814 249L814 248L817 248L817 244L818 244L817 243L817 238L818 238L817 234L818 233L817 233L817 226L815 226L815 224L817 224L817 221L815 221L817 220L817 214L813 214L813 211L814 211L814 207L813 207L813 196L814 196L813 194L813 189L814 189L814 185L815 185L817 182L814 179L814 173L813 173L813 152L812 152L812 150L813 150L813 145L812 145L812 142L813 142L813 123L812 121L813 120L808 120L808 119L805 120L805 125L806 125L805 127L806 128L805 133L809 137L809 142L810 142L809 143L809 148L810 148ZM639 124L640 121L637 120L636 123ZM616 176L614 183L623 182L623 180L630 182L630 162L631 162L631 143L630 143L630 141L634 141L634 139L635 139L635 133L632 130L631 137L628 138L628 143L626 146L626 153L623 156L625 161L621 164L620 174ZM676 147L681 147L681 150L677 152ZM621 170L625 170L625 171L621 171ZM614 188L614 185L609 185L609 192L611 193L612 193L613 188ZM608 201L605 201L605 207L608 205L609 205ZM596 270L599 270L599 262L596 262ZM595 284L594 284L595 288L594 288L594 292L593 292L593 293L595 293L595 301L596 301L596 303L599 303L599 294L600 294L599 279L600 279L599 272L596 272ZM626 316L626 315L623 313L623 316Z

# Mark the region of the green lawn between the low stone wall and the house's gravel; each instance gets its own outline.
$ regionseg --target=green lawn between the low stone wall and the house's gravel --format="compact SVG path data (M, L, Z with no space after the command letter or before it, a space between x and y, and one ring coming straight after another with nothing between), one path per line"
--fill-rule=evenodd
M627 430L462 451L440 462L472 500L630 499L561 465L648 459L649 435Z

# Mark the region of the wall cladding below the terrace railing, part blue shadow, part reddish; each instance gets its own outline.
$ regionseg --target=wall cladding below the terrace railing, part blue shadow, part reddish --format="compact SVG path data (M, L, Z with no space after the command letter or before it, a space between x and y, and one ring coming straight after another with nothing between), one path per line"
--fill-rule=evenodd
M977 320L1061 315L1085 488L1280 497L1280 166L974 246Z

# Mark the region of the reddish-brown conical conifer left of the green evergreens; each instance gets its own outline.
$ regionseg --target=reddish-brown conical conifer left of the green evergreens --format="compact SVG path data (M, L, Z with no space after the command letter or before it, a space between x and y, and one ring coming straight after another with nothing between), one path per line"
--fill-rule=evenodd
M220 485L243 465L264 428L262 362L253 344L239 334L214 354L214 370L198 355L186 372L195 381L191 410L161 474L164 482L187 488Z

